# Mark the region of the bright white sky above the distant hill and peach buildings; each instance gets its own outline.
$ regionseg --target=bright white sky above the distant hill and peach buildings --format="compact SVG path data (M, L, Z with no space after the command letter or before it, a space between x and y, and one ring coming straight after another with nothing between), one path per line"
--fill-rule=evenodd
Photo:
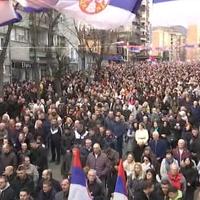
M200 24L200 0L176 0L154 4L150 12L153 26Z

